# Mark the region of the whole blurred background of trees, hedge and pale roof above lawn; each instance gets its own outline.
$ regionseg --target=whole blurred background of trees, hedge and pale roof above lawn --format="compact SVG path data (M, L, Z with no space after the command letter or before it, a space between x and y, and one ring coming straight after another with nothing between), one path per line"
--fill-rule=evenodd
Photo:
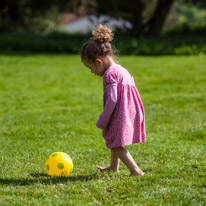
M120 54L206 53L204 0L0 0L0 52L78 54L99 23Z

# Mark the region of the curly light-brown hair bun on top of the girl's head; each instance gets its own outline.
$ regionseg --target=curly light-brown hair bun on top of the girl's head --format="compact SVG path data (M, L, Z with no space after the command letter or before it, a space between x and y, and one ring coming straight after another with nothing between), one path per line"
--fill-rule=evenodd
M112 29L102 24L96 26L93 29L92 34L93 34L93 39L94 40L97 39L100 42L110 42L113 40L114 37Z

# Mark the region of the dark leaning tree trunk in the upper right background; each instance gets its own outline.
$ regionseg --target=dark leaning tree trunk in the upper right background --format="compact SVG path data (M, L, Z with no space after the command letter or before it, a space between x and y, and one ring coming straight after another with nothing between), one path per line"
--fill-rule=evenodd
M157 7L152 15L150 21L146 24L148 31L147 36L157 37L160 35L165 19L170 11L174 0L159 0Z

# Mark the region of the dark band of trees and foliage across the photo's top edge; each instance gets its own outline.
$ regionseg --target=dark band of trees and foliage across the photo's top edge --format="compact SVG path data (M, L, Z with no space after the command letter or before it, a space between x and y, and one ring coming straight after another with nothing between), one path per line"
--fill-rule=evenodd
M0 0L0 32L16 28L45 30L62 12L104 14L132 23L133 36L159 36L175 1L206 8L205 0ZM52 21L50 21L52 20Z

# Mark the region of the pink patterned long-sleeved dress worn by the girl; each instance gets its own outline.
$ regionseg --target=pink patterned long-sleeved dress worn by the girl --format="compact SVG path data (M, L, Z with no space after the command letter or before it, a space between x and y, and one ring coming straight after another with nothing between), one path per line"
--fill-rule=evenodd
M107 148L145 142L144 108L132 75L120 65L111 66L103 88L104 111L96 126L103 129Z

